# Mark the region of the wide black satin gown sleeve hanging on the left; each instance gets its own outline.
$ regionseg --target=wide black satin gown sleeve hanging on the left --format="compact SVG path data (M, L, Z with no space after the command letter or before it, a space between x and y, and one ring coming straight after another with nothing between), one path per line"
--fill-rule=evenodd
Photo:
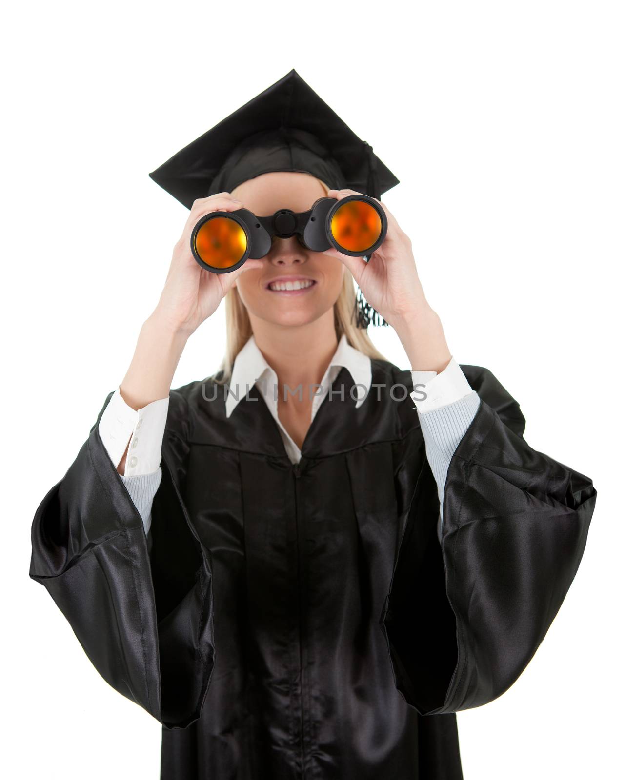
M199 717L214 658L211 563L179 491L186 410L182 396L172 395L151 551L98 432L104 406L37 508L30 560L30 576L48 590L102 677L169 729Z

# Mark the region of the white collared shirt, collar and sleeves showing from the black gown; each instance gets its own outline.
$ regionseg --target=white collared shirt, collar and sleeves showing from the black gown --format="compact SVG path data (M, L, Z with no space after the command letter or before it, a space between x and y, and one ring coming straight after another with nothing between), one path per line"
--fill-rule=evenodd
M354 349L343 334L321 379L318 394L314 395L311 423L342 367L350 372L354 385L360 386L354 407L357 409L364 402L371 388L371 359L359 349ZM435 371L411 371L411 375L415 387L410 398L414 400L414 408L421 420L426 456L442 505L449 463L478 411L479 398L477 393L471 390L471 385L453 358L440 374ZM254 335L250 336L234 361L229 383L233 392L229 392L226 397L226 417L230 417L250 388L257 385L278 425L286 454L292 463L298 463L301 458L300 448L278 416L277 381L275 370L258 349ZM427 393L425 399L421 399L421 392L417 392L423 388ZM169 395L148 403L140 410L133 410L122 398L118 387L98 424L98 432L115 468L119 466L130 440L122 480L144 519L146 534L151 523L151 503L162 476L161 447L168 408ZM439 518L441 516L442 510ZM439 523L439 538L440 536Z

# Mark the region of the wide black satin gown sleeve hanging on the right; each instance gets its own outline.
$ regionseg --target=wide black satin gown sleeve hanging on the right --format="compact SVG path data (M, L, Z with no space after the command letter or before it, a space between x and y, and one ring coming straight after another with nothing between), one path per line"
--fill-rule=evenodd
M449 463L442 541L422 468L380 620L396 687L424 715L478 707L515 682L577 573L595 508L589 477L527 444L493 374L463 371L480 405Z

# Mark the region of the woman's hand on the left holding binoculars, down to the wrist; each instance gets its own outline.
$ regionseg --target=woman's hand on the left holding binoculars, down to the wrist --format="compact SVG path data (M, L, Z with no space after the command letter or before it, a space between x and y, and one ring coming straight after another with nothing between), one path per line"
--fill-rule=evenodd
M215 274L201 268L191 252L191 233L198 220L211 211L236 211L242 207L243 203L227 192L194 200L183 235L174 246L165 287L152 317L174 331L190 335L213 314L240 274L262 267L260 259L248 259L236 271Z

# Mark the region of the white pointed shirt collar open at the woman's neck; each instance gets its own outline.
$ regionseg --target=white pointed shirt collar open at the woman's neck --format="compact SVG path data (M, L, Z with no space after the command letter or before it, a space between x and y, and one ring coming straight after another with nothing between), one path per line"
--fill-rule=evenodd
M328 368L332 366L345 367L350 372L354 385L364 385L366 388L367 392L363 392L360 387L357 390L358 399L355 406L358 408L371 388L371 358L360 352L360 349L351 346L343 333ZM264 378L265 372L275 378L275 371L258 349L254 335L250 335L234 360L232 377L228 383L233 392L228 392L225 399L226 417L230 417L236 405L245 398L256 381Z

